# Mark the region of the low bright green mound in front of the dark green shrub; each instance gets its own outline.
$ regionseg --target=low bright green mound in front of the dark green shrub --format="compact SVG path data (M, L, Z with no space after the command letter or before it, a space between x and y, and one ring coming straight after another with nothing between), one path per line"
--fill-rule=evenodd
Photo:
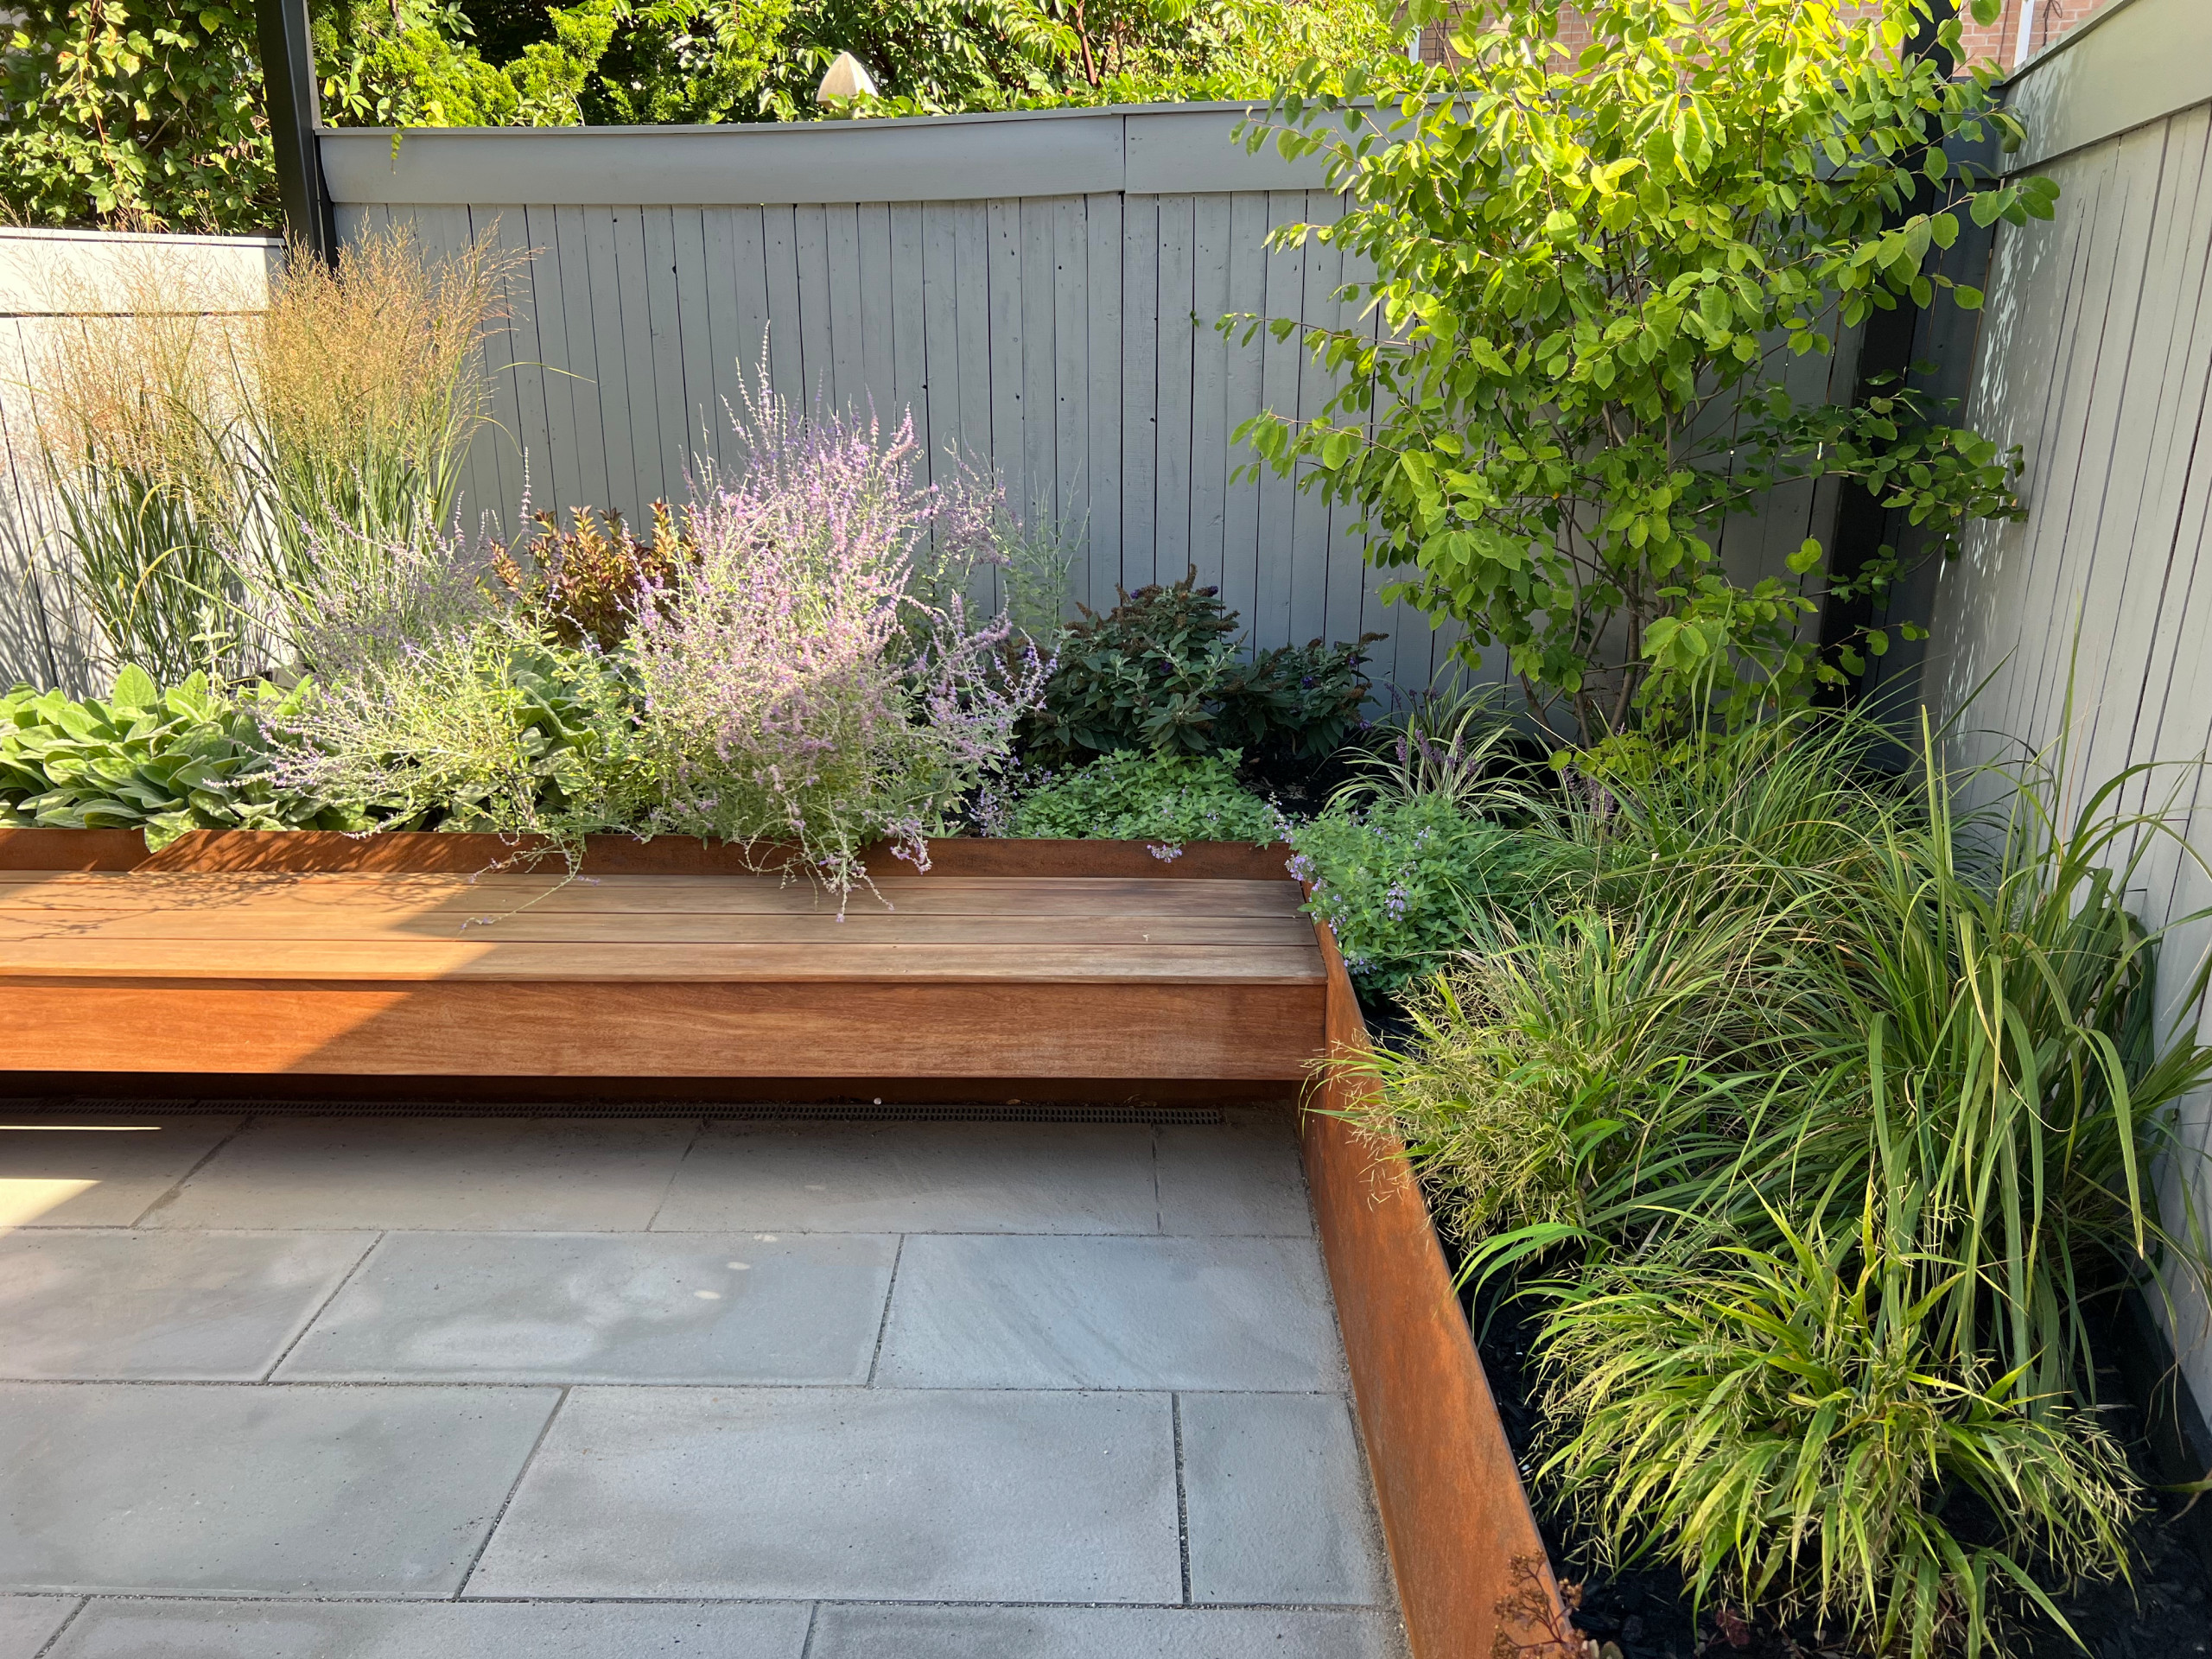
M1237 752L1119 750L1046 779L1022 796L1009 836L1095 841L1252 841L1283 836L1283 816L1237 783Z

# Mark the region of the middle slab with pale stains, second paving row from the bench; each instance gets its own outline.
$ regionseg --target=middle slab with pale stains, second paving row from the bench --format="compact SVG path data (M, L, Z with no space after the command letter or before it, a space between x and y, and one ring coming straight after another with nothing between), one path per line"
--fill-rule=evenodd
M896 1239L394 1232L285 1380L865 1383Z

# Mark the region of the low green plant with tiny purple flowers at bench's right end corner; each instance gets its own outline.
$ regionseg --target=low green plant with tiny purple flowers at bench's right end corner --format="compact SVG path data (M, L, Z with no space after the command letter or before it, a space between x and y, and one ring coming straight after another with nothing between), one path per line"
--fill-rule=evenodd
M1553 858L1544 843L1416 794L1356 805L1338 796L1290 834L1292 874L1312 883L1354 984L1396 995L1458 958L1471 927L1524 916Z

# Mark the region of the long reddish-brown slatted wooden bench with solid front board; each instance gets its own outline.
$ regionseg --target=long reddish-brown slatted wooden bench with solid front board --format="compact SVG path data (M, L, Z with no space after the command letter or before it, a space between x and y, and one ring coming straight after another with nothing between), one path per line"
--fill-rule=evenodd
M1283 878L0 869L38 1073L1287 1082L1323 984Z

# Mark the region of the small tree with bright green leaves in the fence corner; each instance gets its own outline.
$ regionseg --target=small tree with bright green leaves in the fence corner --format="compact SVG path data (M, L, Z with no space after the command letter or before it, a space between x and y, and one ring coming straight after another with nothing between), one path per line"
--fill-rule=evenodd
M1352 504L1369 560L1407 571L1389 593L1464 624L1469 661L1504 646L1540 719L1584 741L1863 672L1887 633L1823 655L1805 622L1893 588L1891 549L1836 575L1809 540L1743 580L1719 542L1814 478L1874 491L1938 553L1973 518L2022 515L2017 451L1907 385L1840 405L1785 376L1876 310L1980 305L1931 268L1964 217L2051 217L2048 179L1962 155L2020 126L1993 71L1951 75L1955 18L1909 49L1929 7L1584 0L1575 53L1557 0L1475 0L1453 62L1400 97L1307 66L1248 137L1321 155L1349 210L1279 246L1365 265L1343 296L1383 327L1303 330L1343 389L1314 420L1245 422L1254 471Z

